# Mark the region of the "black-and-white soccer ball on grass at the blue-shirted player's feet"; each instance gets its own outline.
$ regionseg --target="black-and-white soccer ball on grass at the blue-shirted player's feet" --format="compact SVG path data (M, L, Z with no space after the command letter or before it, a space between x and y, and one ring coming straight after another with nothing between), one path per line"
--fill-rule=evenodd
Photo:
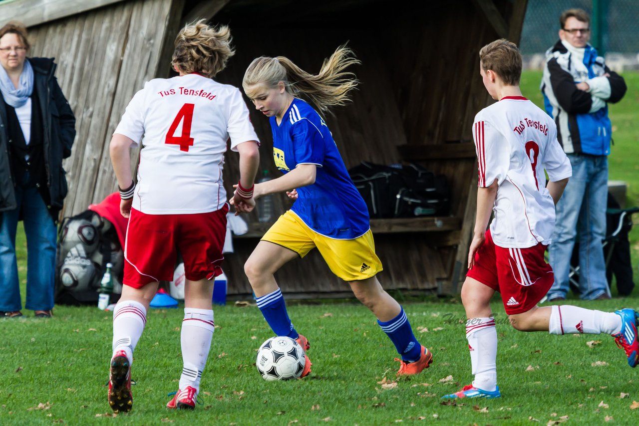
M304 371L304 349L295 340L275 336L259 347L256 366L267 381L298 379Z

